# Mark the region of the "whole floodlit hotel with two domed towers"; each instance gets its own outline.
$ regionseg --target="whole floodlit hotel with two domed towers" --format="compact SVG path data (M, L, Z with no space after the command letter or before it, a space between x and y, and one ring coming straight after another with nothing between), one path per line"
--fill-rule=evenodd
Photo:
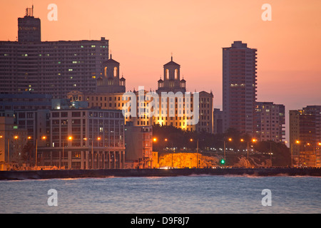
M79 90L70 91L67 94L69 100L84 100L88 102L88 108L99 107L102 109L117 109L123 110L123 106L128 102L128 100L124 100L123 91L126 90L125 78L119 78L119 63L117 61L112 60L110 58L110 62L104 63L105 68L114 69L112 73L114 76L108 76L108 71L106 71L106 76L98 79L98 85L96 91L86 91L81 92ZM173 125L176 128L181 128L183 130L197 130L199 132L205 131L208 133L213 133L213 93L201 91L199 93L199 120L197 125L187 125L186 122L188 117L183 113L183 115L178 116L179 108L185 108L185 98L175 97L175 100L168 100L166 103L166 107L164 106L164 100L162 104L161 93L169 93L173 92L174 94L177 92L183 93L185 95L185 80L180 80L180 71L179 71L178 63L173 62L173 58L169 63L164 65L164 80L158 81L158 90L156 90L158 94L158 111L159 116L148 116L143 115L139 116L139 109L146 113L148 111L148 105L151 100L146 100L147 90L143 91L143 102L139 101L139 90L134 90L133 93L136 95L136 116L128 116L125 117L126 123L131 122L133 126L148 126L159 124L159 125ZM168 76L166 76L168 74ZM110 83L108 83L110 81ZM178 100L183 99L183 100ZM173 103L171 103L173 102ZM183 106L180 102L183 103ZM175 105L175 113L174 116L170 116L170 105ZM190 95L190 110L193 110L193 94ZM165 110L166 109L166 110ZM165 113L164 113L165 110ZM183 109L181 109L183 110ZM184 110L183 110L184 111Z

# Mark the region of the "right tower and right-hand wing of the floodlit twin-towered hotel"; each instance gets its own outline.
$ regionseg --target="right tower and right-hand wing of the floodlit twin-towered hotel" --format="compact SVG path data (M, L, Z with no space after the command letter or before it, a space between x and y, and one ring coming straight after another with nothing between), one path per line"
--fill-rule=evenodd
M158 80L158 89L156 90L156 93L159 95L159 116L153 117L153 123L159 125L172 125L183 130L213 133L213 93L201 91L198 94L198 124L188 125L188 120L195 118L195 116L188 117L185 113L185 108L188 108L193 112L195 108L193 106L194 95L193 93L190 94L190 100L187 100L188 98L185 97L186 81L184 79L180 80L180 65L173 61L173 57L170 62L163 66L163 68L163 79ZM175 100L171 100L171 98L161 98L163 92L173 92L173 94L175 94ZM178 93L182 93L184 97L178 98ZM190 102L190 107L188 107L188 101ZM175 113L170 113L170 105L175 105Z

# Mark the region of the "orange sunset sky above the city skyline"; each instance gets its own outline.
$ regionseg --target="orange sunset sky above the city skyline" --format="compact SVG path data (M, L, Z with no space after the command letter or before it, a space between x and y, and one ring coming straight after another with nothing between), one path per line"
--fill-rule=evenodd
M51 3L58 21L47 19ZM261 19L266 3L272 21ZM243 41L258 49L258 101L284 104L287 120L288 110L321 105L320 0L0 1L1 41L16 40L17 19L32 4L42 41L106 37L127 90L156 90L173 52L187 89L213 90L221 108L222 48Z

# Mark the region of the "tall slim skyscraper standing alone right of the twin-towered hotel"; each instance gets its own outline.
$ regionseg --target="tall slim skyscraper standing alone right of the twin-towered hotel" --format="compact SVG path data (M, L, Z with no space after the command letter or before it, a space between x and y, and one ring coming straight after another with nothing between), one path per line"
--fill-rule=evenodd
M223 48L223 131L255 133L257 49L234 41Z

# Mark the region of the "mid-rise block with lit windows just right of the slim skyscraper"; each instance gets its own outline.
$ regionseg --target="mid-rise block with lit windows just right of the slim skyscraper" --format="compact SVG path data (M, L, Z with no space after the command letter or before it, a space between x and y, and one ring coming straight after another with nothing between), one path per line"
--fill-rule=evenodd
M284 142L285 106L272 102L256 103L257 130L255 136L260 141Z

